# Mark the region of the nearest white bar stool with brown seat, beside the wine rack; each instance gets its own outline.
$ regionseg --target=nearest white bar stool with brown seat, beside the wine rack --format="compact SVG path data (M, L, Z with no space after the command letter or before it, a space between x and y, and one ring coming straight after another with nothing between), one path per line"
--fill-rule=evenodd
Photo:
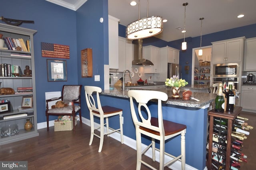
M160 152L160 170L164 169L164 166L174 163L177 160L181 160L182 170L185 170L185 133L186 125L174 123L171 121L163 120L162 117L162 101L166 101L168 96L164 92L152 91L152 90L129 90L128 96L130 97L130 107L132 113L132 120L136 129L136 149L137 149L137 165L136 170L140 170L141 163L145 164L149 168L156 170L150 164L142 160L142 154L152 147L152 160L156 160L155 150ZM133 98L138 103L136 107L136 114ZM147 106L149 100L157 99L158 101L158 117L152 117L150 109ZM145 114L146 117L145 118ZM139 117L139 119L138 119ZM151 137L152 143L142 151L141 147L141 134ZM179 156L173 156L164 151L164 142L167 139L181 135L181 154ZM155 148L155 139L160 141L160 149ZM164 154L174 158L171 161L164 164ZM181 159L180 159L181 158Z

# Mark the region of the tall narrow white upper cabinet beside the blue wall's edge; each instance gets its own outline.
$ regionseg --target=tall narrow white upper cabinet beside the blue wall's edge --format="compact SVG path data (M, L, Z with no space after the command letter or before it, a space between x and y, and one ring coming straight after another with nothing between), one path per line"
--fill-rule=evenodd
M113 69L118 69L118 21L108 15L108 64Z

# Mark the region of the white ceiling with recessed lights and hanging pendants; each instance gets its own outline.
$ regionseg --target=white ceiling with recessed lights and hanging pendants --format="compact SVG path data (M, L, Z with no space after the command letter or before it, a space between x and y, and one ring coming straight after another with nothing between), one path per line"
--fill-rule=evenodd
M77 10L87 0L47 0L49 2ZM132 0L108 0L108 14L120 19L121 25L138 20L138 0L136 6L130 6ZM242 27L256 23L256 0L184 0L186 6L186 37L202 35ZM184 28L184 3L180 0L149 0L148 16L162 16L168 21L164 30L156 37L164 41L182 39L184 34L176 27ZM237 18L244 14L243 18ZM147 0L140 0L140 18L147 17Z

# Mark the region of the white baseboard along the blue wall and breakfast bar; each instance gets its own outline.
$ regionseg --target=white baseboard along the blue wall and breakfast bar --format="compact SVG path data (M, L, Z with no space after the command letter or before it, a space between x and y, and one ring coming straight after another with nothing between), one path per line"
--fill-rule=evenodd
M91 126L90 125L90 120L86 119L84 117L82 117L82 123L84 123L88 126ZM49 121L49 127L51 127L51 126L54 126L54 120ZM100 124L94 122L94 127L98 127L98 126L100 126ZM46 124L46 122L38 123L37 127L38 127L38 129L43 129L43 128L47 127L47 124ZM105 127L105 130L106 130L106 127ZM117 133L117 132L112 133L110 135L110 137L112 137L113 139L116 139L117 141L121 142L120 133ZM124 135L124 144L127 145L128 147L131 147L132 149L136 150L136 140L134 140L132 138L129 138L129 137L126 137L125 135ZM146 145L142 144L142 150L144 150L146 147L147 147ZM150 148L145 153L145 155L148 156L149 158L152 158L152 149ZM159 151L156 150L156 161L157 162L159 162L159 158L160 158ZM170 156L167 156L167 155L164 156L164 162L169 162L172 159L173 158L170 157ZM174 162L171 166L169 166L169 168L172 169L172 170L180 170L181 169L181 162L178 160L178 161ZM197 170L196 168L194 168L194 167L192 167L188 164L186 164L185 169L186 170ZM204 170L207 170L207 167L205 167Z

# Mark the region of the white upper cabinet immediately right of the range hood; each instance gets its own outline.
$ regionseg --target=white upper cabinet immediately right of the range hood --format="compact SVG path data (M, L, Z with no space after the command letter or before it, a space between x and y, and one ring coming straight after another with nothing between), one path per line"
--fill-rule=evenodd
M160 70L160 49L152 45L142 48L142 58L150 60L154 65L145 66L144 73L159 73Z

